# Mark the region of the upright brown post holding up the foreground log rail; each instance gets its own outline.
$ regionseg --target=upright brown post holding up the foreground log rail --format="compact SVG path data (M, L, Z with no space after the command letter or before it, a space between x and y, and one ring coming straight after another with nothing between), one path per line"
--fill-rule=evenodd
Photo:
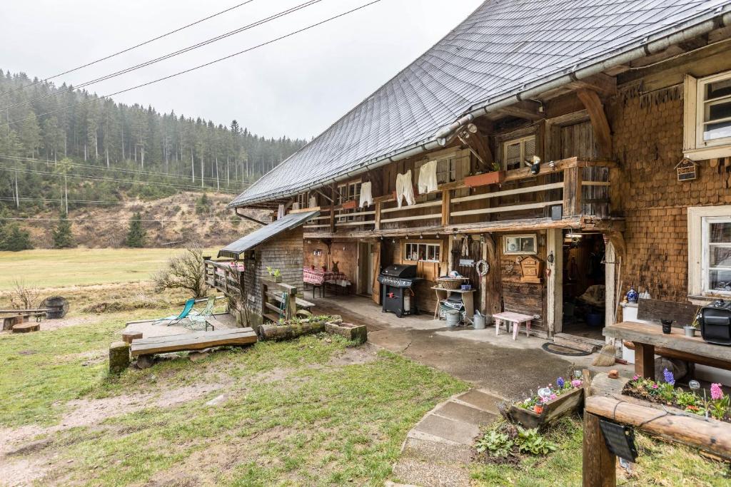
M616 456L607 448L599 416L584 412L582 451L583 487L614 487L617 485Z

